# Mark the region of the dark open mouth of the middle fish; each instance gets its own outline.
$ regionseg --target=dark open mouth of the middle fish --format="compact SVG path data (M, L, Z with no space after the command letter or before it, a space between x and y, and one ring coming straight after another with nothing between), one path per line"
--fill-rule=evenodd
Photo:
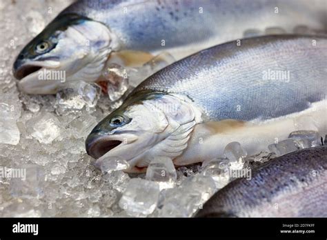
M121 143L122 141L119 140L97 140L95 143L88 144L89 147L86 148L86 151L91 157L99 159L110 150L117 148Z

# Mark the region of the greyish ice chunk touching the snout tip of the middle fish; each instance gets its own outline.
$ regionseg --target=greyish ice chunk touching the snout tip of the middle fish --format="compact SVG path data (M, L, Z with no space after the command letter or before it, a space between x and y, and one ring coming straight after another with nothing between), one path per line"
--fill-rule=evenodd
M92 128L97 125L97 119L92 115L84 114L72 120L68 124L69 130L76 139L85 138L91 132Z

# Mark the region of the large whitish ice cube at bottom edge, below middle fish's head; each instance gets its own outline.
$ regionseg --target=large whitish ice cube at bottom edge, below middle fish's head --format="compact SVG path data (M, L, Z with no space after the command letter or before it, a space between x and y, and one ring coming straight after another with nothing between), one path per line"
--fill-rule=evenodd
M159 199L159 184L144 179L131 179L119 200L119 207L135 217L151 214Z

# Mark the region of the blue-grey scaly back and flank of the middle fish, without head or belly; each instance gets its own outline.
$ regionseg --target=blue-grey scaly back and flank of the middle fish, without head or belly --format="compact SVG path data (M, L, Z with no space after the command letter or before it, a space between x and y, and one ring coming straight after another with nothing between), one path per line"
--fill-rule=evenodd
M135 92L184 94L215 121L265 120L326 99L326 66L326 37L256 37L186 57L153 74Z

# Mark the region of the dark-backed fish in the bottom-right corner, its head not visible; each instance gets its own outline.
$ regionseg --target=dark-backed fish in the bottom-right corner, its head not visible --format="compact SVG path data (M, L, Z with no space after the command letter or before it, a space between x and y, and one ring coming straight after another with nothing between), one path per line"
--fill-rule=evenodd
M252 179L235 179L195 217L327 217L327 146L264 163Z

